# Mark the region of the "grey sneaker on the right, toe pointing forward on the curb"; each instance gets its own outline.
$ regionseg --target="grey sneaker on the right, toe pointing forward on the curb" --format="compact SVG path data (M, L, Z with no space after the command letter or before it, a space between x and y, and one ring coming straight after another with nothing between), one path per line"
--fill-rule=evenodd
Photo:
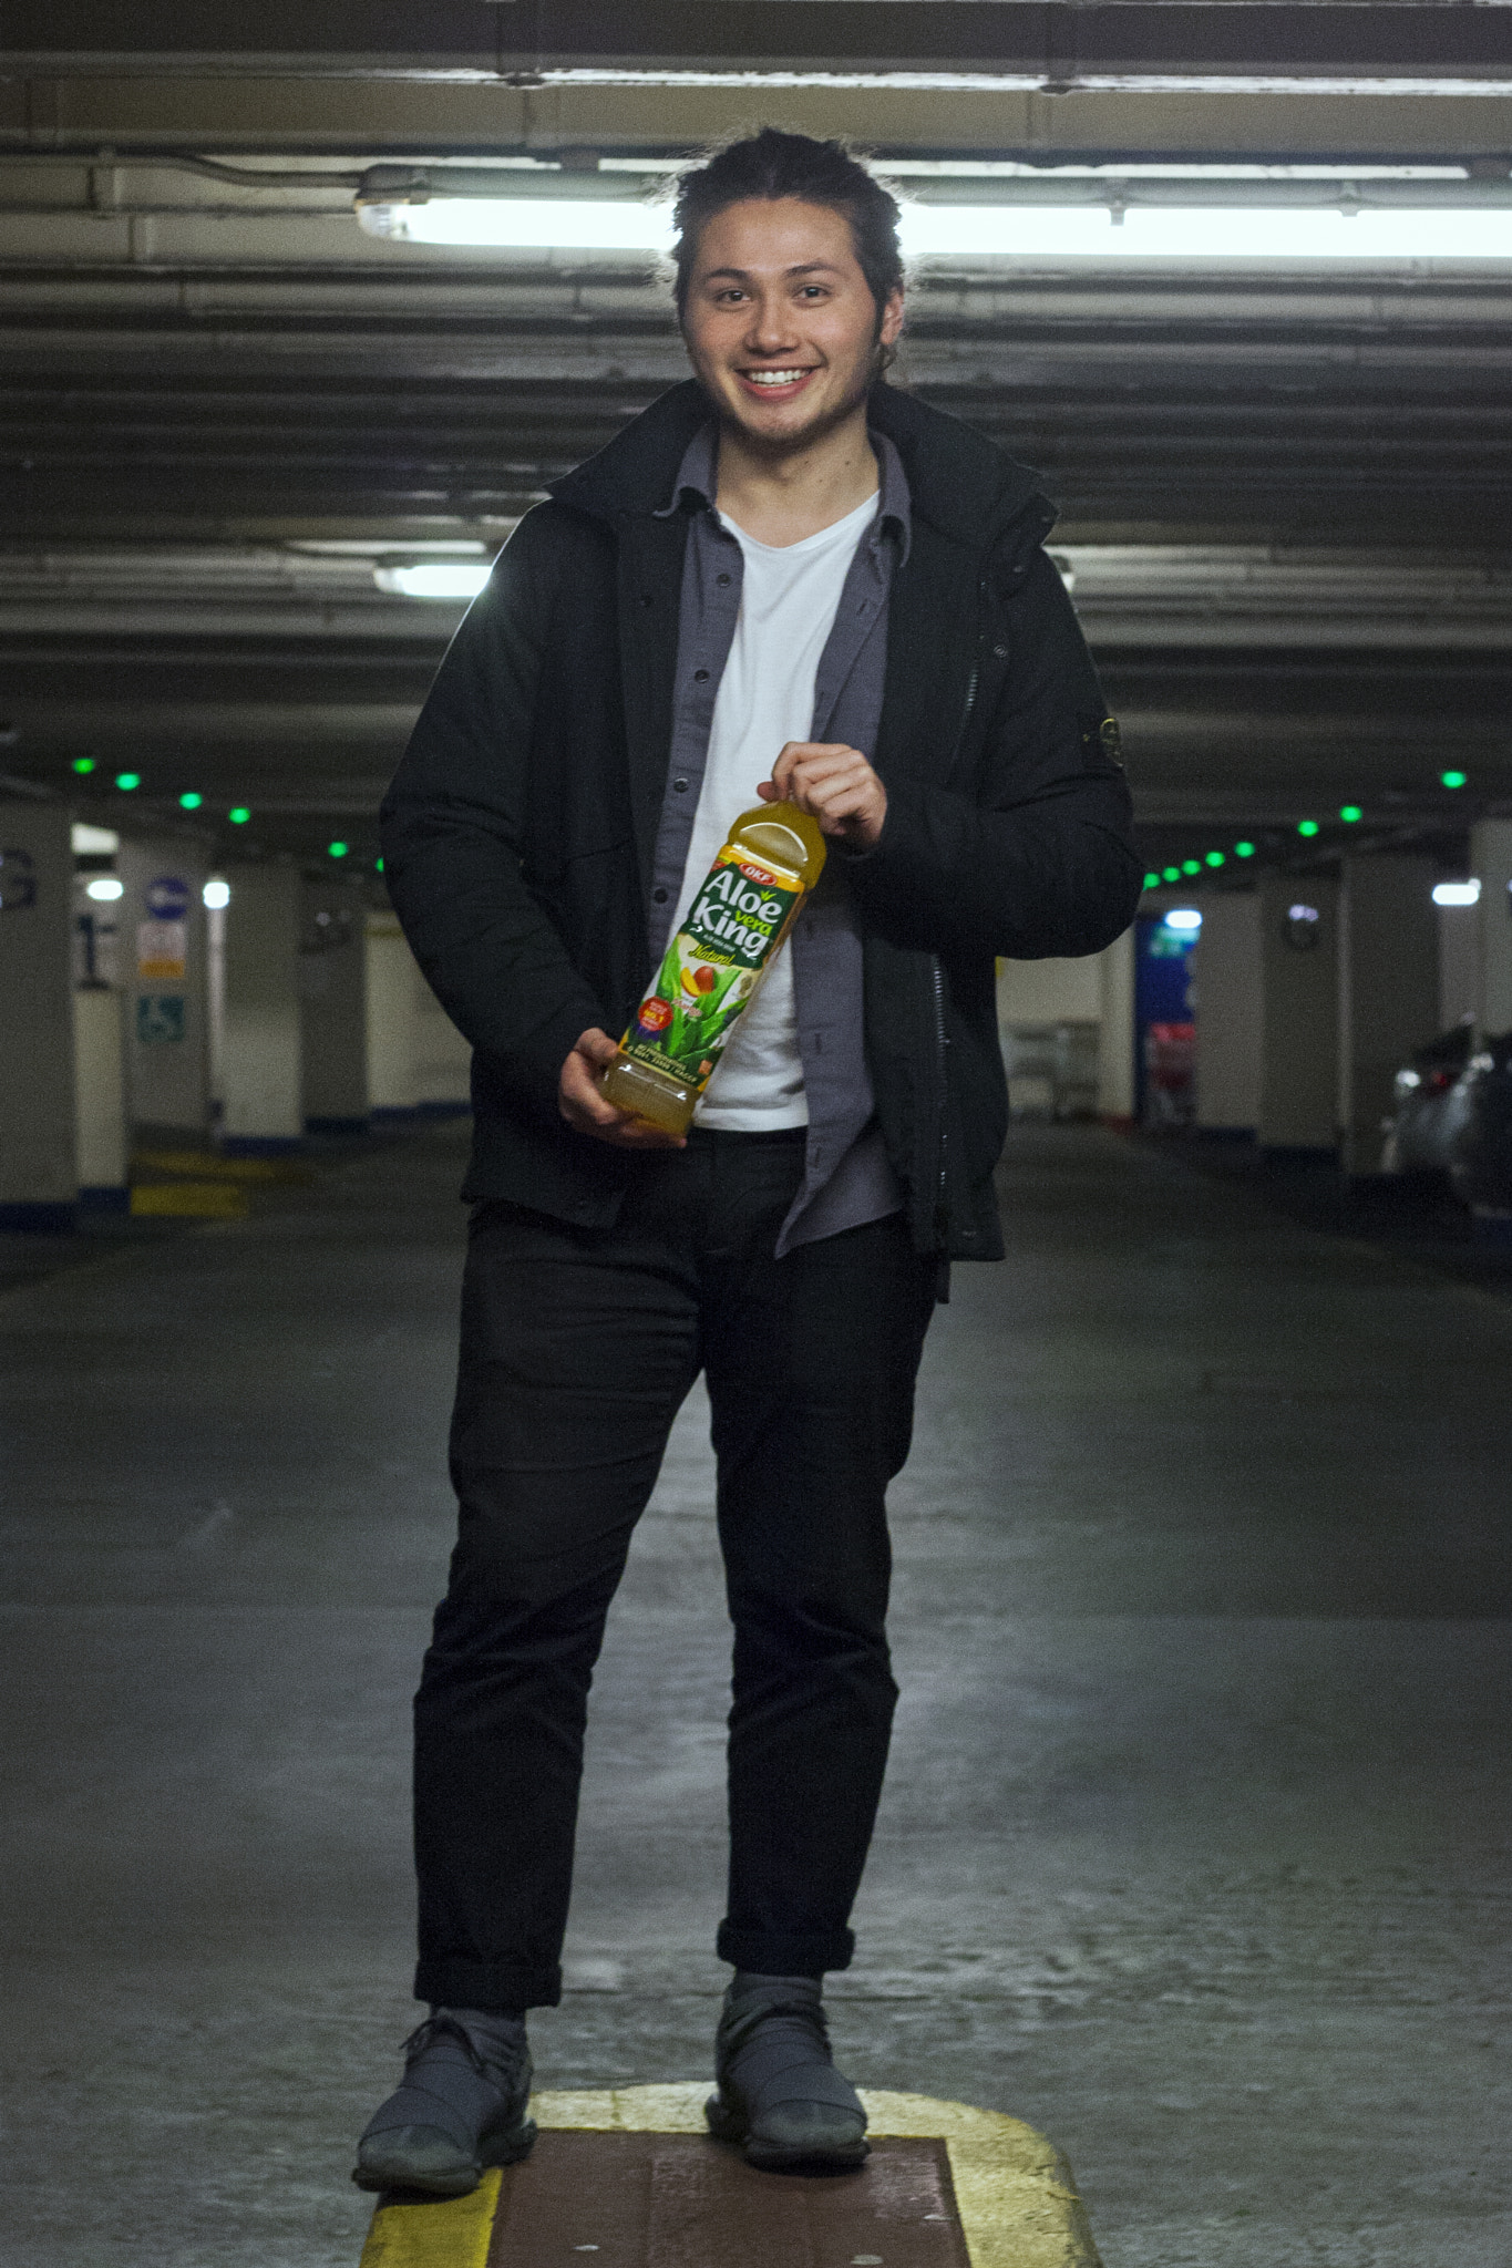
M805 1989L807 1987L807 1989ZM714 2034L719 2093L703 2114L753 2166L859 2166L866 2109L830 2055L818 1987L807 1978L725 1994Z

